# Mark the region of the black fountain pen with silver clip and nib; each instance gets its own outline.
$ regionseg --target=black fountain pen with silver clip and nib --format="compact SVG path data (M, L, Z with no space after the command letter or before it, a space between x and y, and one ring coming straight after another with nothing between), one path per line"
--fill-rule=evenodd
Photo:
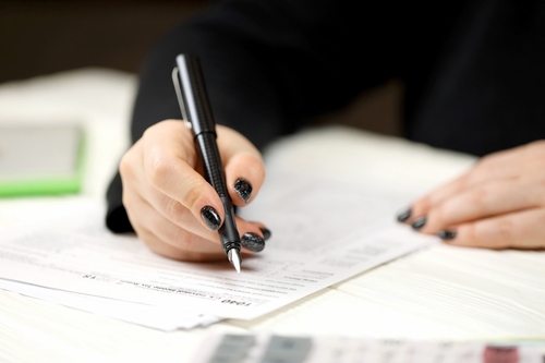
M227 191L226 174L216 143L216 123L211 114L198 57L179 55L172 70L172 82L185 125L193 132L193 140L203 161L205 179L216 190L223 204L226 217L219 228L219 238L229 262L240 274L241 242L234 219L234 208Z

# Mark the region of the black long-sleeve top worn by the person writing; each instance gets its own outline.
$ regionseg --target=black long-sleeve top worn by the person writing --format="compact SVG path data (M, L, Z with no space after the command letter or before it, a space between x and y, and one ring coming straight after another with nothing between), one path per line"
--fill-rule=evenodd
M409 140L482 156L545 138L545 1L218 1L161 39L140 74L132 140L181 118L171 71L201 58L215 120L257 147L392 77ZM107 226L132 227L118 176Z

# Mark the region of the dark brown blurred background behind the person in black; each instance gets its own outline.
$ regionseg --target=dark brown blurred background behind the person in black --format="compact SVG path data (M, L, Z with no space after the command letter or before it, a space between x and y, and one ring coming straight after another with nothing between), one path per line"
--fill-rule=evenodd
M258 1L258 0L256 0ZM0 0L0 83L85 66L137 73L146 50L211 0ZM400 135L392 80L316 120Z

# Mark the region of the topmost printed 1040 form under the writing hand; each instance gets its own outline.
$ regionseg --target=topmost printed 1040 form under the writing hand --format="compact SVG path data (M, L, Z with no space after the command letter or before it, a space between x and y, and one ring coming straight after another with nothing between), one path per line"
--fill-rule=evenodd
M387 198L361 185L307 181L292 181L280 194L278 187L264 190L263 203L249 209L275 234L264 253L243 259L240 275L227 258L197 264L155 255L134 237L89 225L101 221L96 210L81 210L84 218L73 218L70 228L49 223L4 231L0 277L251 319L436 241L385 222L401 203L391 193Z

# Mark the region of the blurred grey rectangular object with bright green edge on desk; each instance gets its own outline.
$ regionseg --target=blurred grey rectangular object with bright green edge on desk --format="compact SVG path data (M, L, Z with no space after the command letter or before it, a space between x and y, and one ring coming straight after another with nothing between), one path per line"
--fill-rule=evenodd
M78 193L84 154L78 124L0 125L0 197Z

